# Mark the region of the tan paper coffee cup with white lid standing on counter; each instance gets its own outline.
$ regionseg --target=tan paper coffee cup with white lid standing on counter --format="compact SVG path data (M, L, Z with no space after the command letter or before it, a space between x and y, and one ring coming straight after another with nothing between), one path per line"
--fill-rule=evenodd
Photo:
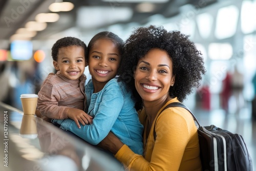
M25 115L35 115L38 96L36 94L22 94L20 100L22 101L22 109Z

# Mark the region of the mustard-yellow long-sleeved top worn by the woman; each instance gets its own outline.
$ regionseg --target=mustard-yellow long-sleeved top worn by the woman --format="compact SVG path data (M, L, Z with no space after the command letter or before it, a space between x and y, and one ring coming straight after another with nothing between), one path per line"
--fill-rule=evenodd
M179 101L177 98L169 100L162 109L172 102ZM153 125L156 122L156 141L152 126L146 142L147 116L144 110L139 117L144 125L144 155L133 153L127 145L123 145L115 155L126 170L202 170L197 126L186 109L168 108L156 117L153 122Z

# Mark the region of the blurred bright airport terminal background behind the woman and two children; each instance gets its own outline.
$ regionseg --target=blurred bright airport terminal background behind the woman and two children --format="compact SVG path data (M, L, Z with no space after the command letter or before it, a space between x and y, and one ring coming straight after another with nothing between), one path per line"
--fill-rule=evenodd
M20 94L37 94L55 72L51 47L61 37L88 45L100 31L125 40L142 26L179 30L196 43L207 69L184 103L201 125L241 134L255 168L255 9L256 0L1 0L0 101L22 110Z

